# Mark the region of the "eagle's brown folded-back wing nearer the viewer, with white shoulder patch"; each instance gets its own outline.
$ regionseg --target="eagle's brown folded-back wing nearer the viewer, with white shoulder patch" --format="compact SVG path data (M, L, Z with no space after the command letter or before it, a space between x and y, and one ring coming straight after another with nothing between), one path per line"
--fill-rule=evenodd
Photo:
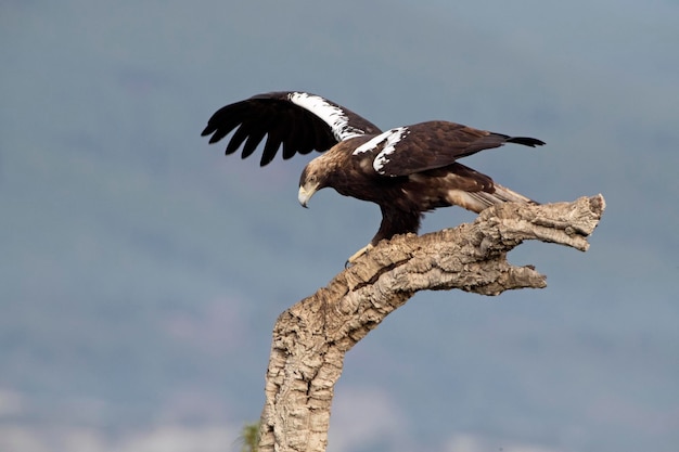
M390 129L358 146L354 154L369 153L377 173L396 177L443 168L461 157L504 143L531 147L545 144L534 138L509 137L454 122L428 121Z

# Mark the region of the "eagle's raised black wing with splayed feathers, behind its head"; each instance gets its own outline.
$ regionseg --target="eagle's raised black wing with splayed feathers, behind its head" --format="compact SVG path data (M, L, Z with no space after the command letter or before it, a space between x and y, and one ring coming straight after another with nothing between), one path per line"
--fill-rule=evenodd
M380 129L356 113L316 94L270 92L218 109L201 135L216 143L235 129L226 154L243 145L242 158L252 155L266 137L260 166L269 164L283 146L283 158L326 151L340 141Z

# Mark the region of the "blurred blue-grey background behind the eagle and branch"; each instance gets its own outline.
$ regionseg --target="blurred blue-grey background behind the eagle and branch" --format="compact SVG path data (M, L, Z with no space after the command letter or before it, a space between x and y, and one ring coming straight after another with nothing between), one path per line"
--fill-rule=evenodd
M607 202L586 254L512 251L547 288L389 315L347 356L329 451L676 451L678 22L674 0L0 2L0 450L239 450L277 317L380 221L332 191L300 208L308 158L200 137L293 89L542 139L464 163Z

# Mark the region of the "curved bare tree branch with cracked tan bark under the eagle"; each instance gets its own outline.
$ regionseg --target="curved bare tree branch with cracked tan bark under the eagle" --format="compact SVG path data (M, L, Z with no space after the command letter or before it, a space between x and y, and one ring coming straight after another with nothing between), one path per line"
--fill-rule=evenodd
M539 206L502 204L473 223L383 241L328 286L283 312L273 328L259 451L321 452L345 353L418 290L499 295L546 287L507 254L526 240L581 251L605 208L602 195Z

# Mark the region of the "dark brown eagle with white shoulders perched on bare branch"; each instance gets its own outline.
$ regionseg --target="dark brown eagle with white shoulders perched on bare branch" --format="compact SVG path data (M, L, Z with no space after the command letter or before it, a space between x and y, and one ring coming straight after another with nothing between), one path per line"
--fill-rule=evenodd
M326 151L302 172L298 198L304 207L326 186L380 206L380 230L349 263L383 238L417 233L423 214L438 207L457 205L481 212L498 203L535 203L457 160L504 143L545 144L443 120L383 132L334 102L298 91L258 94L227 105L209 118L202 135L212 134L209 142L216 143L233 129L227 155L243 145L242 157L248 157L266 137L260 166L269 164L281 145L284 159Z

